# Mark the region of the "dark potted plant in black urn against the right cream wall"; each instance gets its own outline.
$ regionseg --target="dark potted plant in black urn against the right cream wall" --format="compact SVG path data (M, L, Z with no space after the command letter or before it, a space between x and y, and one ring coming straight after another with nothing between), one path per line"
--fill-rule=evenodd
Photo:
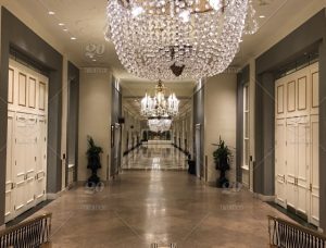
M215 169L220 171L220 178L217 178L216 181L216 186L218 188L228 187L229 182L225 175L226 171L230 169L229 164L231 159L231 151L225 145L225 141L221 139L221 136L218 144L214 144L214 146L217 146L217 149L213 152Z

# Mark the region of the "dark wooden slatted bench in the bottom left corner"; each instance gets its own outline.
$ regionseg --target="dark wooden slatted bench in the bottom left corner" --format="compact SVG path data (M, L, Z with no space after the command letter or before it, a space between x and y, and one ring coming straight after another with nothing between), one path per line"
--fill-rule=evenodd
M51 218L46 213L0 231L0 248L51 247Z

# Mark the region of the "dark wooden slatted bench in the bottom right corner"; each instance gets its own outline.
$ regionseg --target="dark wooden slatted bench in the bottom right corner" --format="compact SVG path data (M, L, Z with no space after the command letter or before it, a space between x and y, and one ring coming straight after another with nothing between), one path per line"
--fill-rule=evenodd
M311 228L268 215L269 246L281 248L326 248L326 236Z

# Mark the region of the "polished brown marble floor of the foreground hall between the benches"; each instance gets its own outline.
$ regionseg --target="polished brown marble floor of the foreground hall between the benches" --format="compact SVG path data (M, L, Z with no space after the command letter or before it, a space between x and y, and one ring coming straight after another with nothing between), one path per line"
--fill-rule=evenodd
M53 247L62 248L261 248L267 214L285 218L244 188L218 189L168 170L124 171L109 184L63 193L36 214L46 211L53 213Z

